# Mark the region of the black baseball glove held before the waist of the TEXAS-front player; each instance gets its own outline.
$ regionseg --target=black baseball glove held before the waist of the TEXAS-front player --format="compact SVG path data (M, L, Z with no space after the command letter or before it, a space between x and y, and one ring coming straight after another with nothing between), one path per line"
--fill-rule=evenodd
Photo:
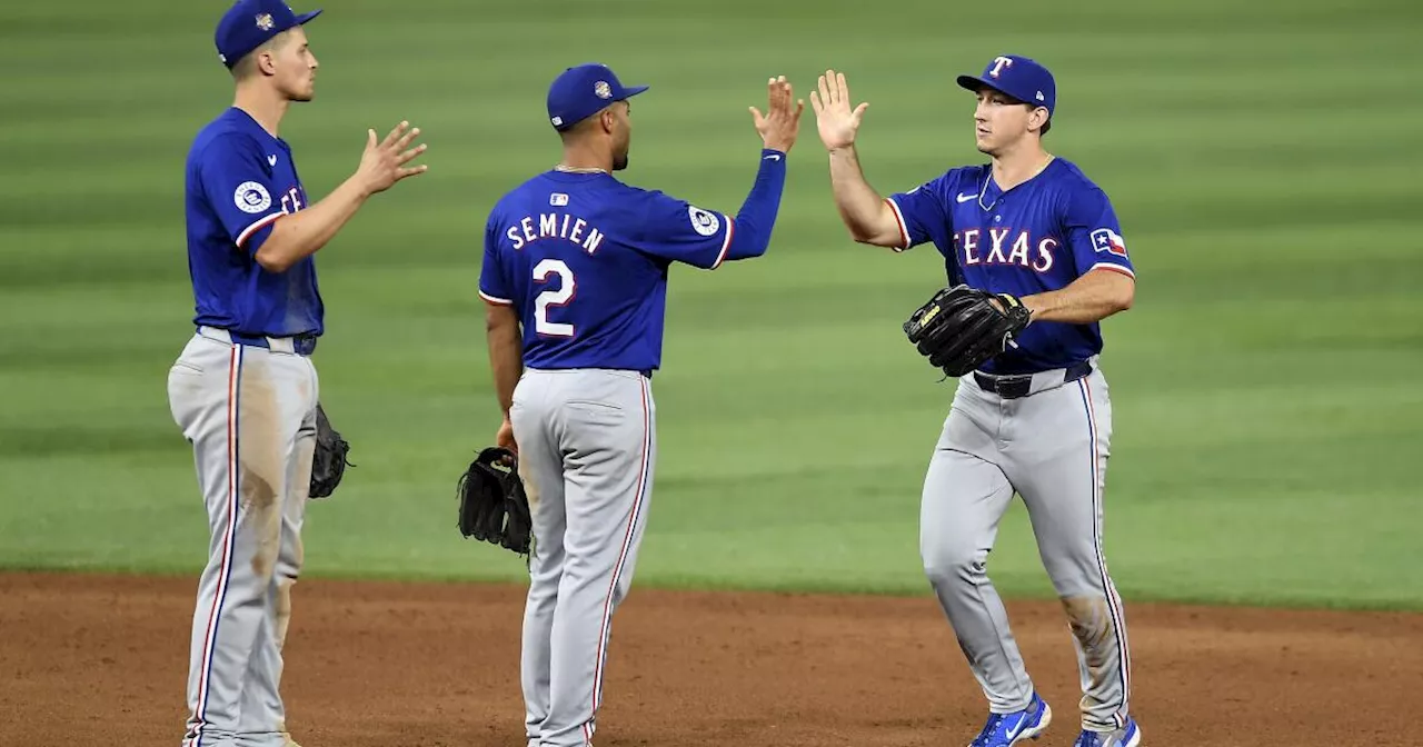
M904 333L931 366L948 376L963 376L1016 346L1013 336L1027 323L1029 312L1016 296L956 285L915 309Z

